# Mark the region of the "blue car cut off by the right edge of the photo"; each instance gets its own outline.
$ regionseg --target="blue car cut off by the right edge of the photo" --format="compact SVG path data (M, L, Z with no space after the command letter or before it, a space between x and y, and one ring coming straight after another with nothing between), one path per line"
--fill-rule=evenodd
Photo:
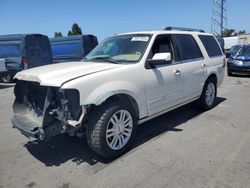
M250 75L250 44L242 46L227 62L228 75Z

